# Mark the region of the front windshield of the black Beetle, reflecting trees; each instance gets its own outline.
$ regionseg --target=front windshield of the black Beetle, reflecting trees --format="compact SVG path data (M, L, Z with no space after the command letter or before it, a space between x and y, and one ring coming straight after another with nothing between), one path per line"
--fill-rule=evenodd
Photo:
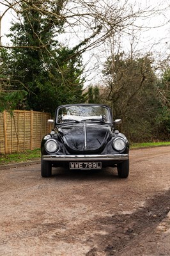
M101 122L110 123L109 109L105 106L65 106L59 108L57 123Z

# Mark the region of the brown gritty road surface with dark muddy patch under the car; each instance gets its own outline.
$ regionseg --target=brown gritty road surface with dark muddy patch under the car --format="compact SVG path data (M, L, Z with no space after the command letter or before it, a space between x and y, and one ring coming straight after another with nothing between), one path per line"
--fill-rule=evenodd
M169 171L170 147L131 150L128 179L111 168L49 179L40 164L1 170L0 255L170 255Z

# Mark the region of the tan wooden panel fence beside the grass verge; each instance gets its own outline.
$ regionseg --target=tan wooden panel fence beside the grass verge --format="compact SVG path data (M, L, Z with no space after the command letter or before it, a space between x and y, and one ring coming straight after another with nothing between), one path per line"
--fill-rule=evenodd
M42 137L51 131L49 113L15 110L0 113L0 154L40 148Z

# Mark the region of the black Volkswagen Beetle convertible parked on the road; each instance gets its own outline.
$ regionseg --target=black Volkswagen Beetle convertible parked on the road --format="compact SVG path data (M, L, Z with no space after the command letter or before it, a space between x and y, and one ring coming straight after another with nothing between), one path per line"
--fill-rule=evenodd
M129 144L114 128L111 109L102 104L69 104L56 109L54 129L42 139L41 174L50 177L52 166L70 170L117 167L118 176L129 173Z

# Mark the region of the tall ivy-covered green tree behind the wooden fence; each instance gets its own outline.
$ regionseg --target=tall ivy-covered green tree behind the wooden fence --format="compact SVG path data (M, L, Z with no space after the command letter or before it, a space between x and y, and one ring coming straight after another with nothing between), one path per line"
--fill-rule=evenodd
M76 50L58 42L65 20L39 12L37 5L41 3L34 0L22 3L18 12L22 22L12 24L8 35L12 48L3 49L0 67L8 83L3 79L1 88L4 93L26 92L15 97L15 108L52 113L61 104L84 102L83 67ZM50 8L59 13L62 4L55 2Z

